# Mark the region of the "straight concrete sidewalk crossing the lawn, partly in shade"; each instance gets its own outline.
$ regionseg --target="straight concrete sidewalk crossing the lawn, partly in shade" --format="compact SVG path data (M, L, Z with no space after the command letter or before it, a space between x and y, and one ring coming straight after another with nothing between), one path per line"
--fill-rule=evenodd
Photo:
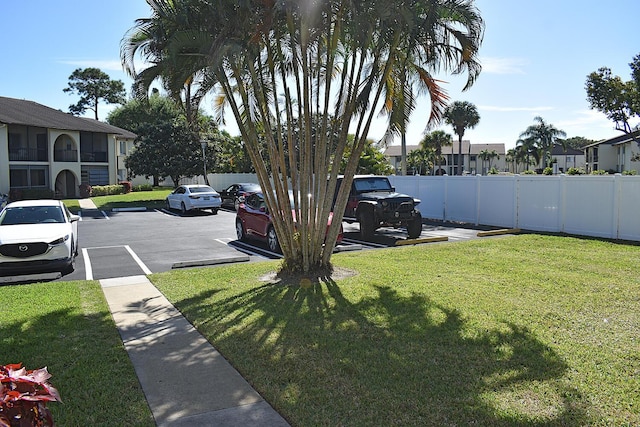
M146 276L100 280L158 426L288 426Z

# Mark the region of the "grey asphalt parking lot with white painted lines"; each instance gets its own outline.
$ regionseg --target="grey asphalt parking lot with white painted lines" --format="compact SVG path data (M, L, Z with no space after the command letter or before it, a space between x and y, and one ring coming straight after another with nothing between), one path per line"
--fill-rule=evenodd
M180 215L167 210L106 212L84 210L78 233L80 251L75 271L64 277L45 274L0 278L0 283L36 280L99 280L159 273L176 268L277 259L261 242L238 242L235 212ZM344 241L337 252L430 244L476 238L479 227L427 222L420 238L408 241L403 230L379 229L369 241L358 224L344 223ZM35 280L34 280L35 279Z

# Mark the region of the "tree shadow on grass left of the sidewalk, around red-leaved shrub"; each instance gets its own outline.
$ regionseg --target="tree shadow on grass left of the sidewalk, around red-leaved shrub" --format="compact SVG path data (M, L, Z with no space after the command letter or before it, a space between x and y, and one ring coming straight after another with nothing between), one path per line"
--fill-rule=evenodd
M56 425L155 425L108 311L61 309L0 326L0 364L52 375L63 401L47 405Z

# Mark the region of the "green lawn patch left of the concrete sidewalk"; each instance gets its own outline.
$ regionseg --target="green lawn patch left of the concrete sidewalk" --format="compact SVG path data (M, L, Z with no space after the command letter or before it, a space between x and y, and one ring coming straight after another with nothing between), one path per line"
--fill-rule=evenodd
M47 367L59 426L154 426L98 282L0 286L0 364Z

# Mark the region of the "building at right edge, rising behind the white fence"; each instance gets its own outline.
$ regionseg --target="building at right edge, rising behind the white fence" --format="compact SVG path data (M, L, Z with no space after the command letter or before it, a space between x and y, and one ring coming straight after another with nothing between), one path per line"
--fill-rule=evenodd
M640 130L584 147L586 172L640 172Z

